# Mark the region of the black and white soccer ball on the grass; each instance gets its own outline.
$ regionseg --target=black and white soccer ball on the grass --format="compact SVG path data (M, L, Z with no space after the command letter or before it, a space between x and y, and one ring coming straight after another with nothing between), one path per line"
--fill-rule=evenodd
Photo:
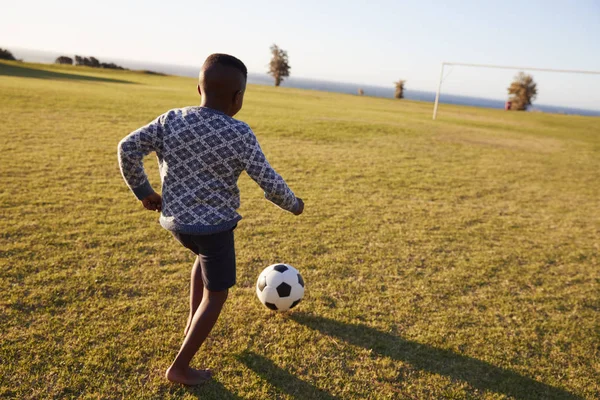
M269 265L258 276L256 295L261 303L274 311L287 311L304 296L304 279L287 264Z

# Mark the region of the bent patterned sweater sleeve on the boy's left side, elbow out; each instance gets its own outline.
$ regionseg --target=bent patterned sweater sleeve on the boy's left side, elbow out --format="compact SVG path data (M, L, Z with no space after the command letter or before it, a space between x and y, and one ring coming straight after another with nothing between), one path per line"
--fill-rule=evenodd
M119 168L125 183L138 200L154 193L144 171L144 156L160 152L163 139L163 118L158 117L125 136L118 146Z

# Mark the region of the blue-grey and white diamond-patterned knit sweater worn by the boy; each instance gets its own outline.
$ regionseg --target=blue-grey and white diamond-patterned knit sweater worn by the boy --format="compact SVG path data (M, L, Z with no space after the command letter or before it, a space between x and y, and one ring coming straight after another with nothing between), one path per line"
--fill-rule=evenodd
M154 193L142 159L156 152L162 181L163 228L210 234L233 228L242 217L237 180L242 171L279 207L295 211L296 196L273 170L250 127L206 107L174 109L119 143L125 182L141 200Z

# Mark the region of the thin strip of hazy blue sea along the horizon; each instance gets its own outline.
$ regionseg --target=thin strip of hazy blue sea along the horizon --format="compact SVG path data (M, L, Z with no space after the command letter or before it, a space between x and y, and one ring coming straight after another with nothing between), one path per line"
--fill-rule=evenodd
M26 62L37 62L37 63L53 63L54 60L64 53L56 53L56 52L48 52L48 51L39 51L39 50L29 50L29 49L9 49L13 55L17 59L22 59ZM69 54L66 54L69 55ZM69 55L70 56L70 55ZM174 64L159 64L152 62L143 62L143 61L132 61L132 60L122 60L122 59L108 59L108 58L100 58L102 62L114 62L115 64L121 65L125 68L134 69L134 70L150 70L155 72L161 72L169 75L178 75L178 76L186 76L186 77L197 77L198 76L198 67L191 66L183 66L183 65L174 65ZM248 73L248 83L257 84L257 85L273 85L273 78L266 73ZM300 78L295 76L290 76L286 78L281 84L283 87L291 87L298 89L310 89L310 90L320 90L325 92L335 92L335 93L346 93L346 94L354 94L358 93L358 89L362 89L366 96L374 96L374 97L383 97L383 98L393 98L394 97L394 87L390 85L390 87L376 86L376 85L363 85L358 83L350 83L350 82L333 82L326 80L318 80L318 79L309 79L309 78ZM408 100L419 100L419 101L427 101L434 102L435 101L435 93L428 91L420 91L407 89L405 90L404 97ZM481 97L470 97L470 96L461 96L456 94L449 93L441 93L440 94L440 103L443 104L456 104L456 105L465 105L465 106L474 106L474 107L485 107L485 108L496 108L496 109L504 109L505 100L501 99L488 99ZM535 104L535 106L530 107L529 111L531 112L546 112L546 113L556 113L556 114L571 114L571 115L585 115L585 116L600 116L600 110L588 110L588 109L580 109L580 108L570 108L570 107L559 107L553 105L543 105L543 104Z

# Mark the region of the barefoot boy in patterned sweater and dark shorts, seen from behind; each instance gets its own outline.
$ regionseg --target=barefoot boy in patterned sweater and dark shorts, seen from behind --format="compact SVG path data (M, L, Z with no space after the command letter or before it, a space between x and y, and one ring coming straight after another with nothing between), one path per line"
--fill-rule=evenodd
M161 212L160 224L196 255L190 284L190 314L185 339L166 377L200 384L210 370L190 361L221 313L235 284L233 230L242 218L237 180L246 171L265 197L295 215L304 203L269 165L244 122L233 119L246 89L246 66L226 54L212 54L200 71L199 107L170 110L119 143L125 182L148 210ZM156 152L162 197L150 186L142 159Z

